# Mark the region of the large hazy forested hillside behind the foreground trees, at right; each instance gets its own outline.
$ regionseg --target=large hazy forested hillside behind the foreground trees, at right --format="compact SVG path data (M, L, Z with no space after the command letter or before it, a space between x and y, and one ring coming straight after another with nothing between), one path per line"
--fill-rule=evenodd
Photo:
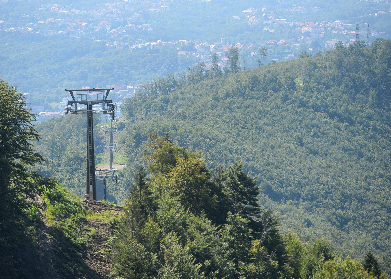
M306 55L145 88L123 106L128 165L148 132L167 130L210 167L242 160L283 231L323 236L346 254L371 249L389 267L391 42Z

